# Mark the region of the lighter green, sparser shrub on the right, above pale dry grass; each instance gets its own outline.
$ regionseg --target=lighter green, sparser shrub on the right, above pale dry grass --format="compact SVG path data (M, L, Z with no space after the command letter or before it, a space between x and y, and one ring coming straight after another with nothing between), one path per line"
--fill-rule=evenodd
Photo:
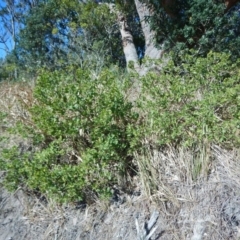
M239 146L239 61L229 59L224 53L185 55L181 66L169 61L160 74L142 78L141 135L157 145Z

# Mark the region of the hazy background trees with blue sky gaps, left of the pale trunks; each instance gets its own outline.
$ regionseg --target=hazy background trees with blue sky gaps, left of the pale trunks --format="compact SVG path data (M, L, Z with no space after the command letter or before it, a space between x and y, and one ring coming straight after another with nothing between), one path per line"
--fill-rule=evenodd
M134 5L133 5L134 6ZM138 55L143 51L137 12L127 19ZM117 19L105 4L96 1L42 1L24 19L17 44L18 54L28 64L53 68L101 54L106 65L125 66ZM91 57L90 57L91 58Z

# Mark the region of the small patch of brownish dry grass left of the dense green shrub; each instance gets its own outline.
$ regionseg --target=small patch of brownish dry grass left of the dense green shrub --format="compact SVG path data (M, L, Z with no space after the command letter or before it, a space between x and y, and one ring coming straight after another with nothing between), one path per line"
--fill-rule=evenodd
M19 146L20 151L29 148L28 139L8 130L18 121L31 122L27 107L33 103L33 86L34 82L0 82L0 150L12 146Z

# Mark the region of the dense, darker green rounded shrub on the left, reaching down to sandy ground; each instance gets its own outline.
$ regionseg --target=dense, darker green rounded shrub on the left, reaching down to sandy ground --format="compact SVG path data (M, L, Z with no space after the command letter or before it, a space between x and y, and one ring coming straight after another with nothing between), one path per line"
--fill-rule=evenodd
M131 168L130 141L137 114L125 101L117 73L93 77L86 70L42 72L19 130L34 153L5 150L1 168L11 189L24 185L59 201L106 195Z

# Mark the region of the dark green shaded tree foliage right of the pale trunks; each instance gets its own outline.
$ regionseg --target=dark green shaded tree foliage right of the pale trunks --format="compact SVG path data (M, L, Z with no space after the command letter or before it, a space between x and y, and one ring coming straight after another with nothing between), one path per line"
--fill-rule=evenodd
M157 46L179 52L196 49L239 56L239 4L237 1L142 1L152 9L147 17Z

